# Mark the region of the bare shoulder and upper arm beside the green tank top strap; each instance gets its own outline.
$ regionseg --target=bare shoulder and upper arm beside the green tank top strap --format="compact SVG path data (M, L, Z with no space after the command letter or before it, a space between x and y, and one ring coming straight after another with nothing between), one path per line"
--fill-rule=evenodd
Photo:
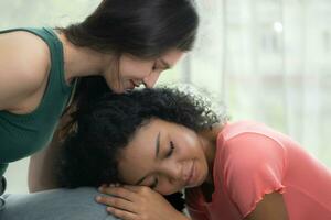
M50 68L50 51L39 36L18 31L0 34L0 109L35 92Z

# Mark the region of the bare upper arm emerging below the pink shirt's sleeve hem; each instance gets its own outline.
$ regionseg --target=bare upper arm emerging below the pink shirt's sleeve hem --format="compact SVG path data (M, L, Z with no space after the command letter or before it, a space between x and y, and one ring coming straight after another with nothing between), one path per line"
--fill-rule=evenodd
M268 194L245 220L288 220L286 205L279 193Z

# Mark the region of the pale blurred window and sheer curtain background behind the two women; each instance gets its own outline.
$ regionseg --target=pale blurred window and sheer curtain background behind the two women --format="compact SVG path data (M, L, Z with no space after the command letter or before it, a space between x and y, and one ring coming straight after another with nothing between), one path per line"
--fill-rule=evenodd
M66 26L99 2L0 0L0 30ZM226 105L233 121L264 122L331 167L331 0L196 2L196 46L160 84L205 88ZM28 163L10 164L8 193L28 191Z

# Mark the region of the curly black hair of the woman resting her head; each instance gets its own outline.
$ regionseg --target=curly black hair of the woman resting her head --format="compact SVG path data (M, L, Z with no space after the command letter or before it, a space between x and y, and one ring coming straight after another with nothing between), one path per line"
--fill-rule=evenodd
M177 88L107 92L73 113L76 129L64 141L58 182L62 187L119 183L117 153L153 118L196 132L224 123L202 96Z

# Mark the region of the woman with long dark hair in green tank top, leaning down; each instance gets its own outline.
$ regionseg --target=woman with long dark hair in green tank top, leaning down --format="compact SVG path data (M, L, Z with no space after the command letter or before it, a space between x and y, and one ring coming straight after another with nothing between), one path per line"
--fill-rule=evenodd
M197 24L193 0L103 0L67 28L1 31L0 195L8 164L42 148L29 187L55 188L52 164L71 116L109 89L153 87L192 48Z

